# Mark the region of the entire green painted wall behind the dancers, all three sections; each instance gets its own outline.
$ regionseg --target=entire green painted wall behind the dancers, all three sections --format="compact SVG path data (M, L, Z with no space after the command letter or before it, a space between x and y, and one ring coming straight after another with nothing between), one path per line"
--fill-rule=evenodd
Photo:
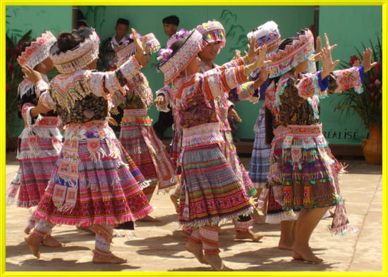
M253 27L274 20L279 25L283 38L294 35L298 30L313 24L313 6L80 6L88 23L95 27L101 39L114 34L114 25L119 17L131 20L131 26L145 35L153 32L164 45L168 37L164 35L162 18L175 14L181 20L179 27L191 29L207 20L219 20L227 34L226 47L215 61L222 64L231 59L234 49L243 51L247 43L246 33ZM193 16L195 15L195 16ZM32 29L32 37L45 30L54 35L63 30L71 30L71 6L6 6L7 35L20 38ZM377 35L382 37L381 6L320 6L320 35L329 35L332 44L339 46L333 51L334 59L348 61L356 54L354 47L361 48L361 42L375 42ZM150 65L143 70L153 91L163 85L162 73L154 69L156 54ZM334 112L334 106L341 100L335 95L321 101L321 121L329 142L332 144L360 144L368 133L356 114L351 118ZM261 104L238 102L236 109L243 118L238 137L253 139L253 125ZM154 120L158 113L154 107L149 114ZM20 130L23 128L23 123ZM13 133L18 135L20 130ZM166 135L171 135L166 133Z

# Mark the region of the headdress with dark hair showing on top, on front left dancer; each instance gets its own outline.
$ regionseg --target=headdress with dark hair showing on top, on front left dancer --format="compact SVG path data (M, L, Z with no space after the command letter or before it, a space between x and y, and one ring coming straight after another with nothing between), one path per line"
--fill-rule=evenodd
M91 34L85 37L83 35L85 32L91 32ZM95 29L87 27L73 30L71 33L78 33L78 35L85 37L85 41L66 52L56 51L56 53L53 53L54 51L51 49L50 59L60 73L71 73L75 70L84 69L89 63L98 58L99 37ZM53 47L55 46L56 44Z

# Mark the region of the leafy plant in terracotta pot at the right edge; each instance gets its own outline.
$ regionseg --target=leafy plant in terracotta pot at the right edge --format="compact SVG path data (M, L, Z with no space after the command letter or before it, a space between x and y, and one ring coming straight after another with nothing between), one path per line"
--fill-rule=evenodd
M366 49L365 45L363 48ZM377 37L377 45L370 41L373 49L372 60L377 66L365 73L363 93L358 94L353 89L343 92L344 100L335 110L346 114L355 111L369 130L368 139L363 140L363 154L368 164L382 164L382 45ZM360 63L362 52L356 48L357 55L351 56L344 68Z

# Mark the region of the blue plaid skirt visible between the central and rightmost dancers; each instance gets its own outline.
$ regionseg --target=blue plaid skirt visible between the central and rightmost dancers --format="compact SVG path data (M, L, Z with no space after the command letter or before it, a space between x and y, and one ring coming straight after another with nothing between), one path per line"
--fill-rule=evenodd
M249 177L255 187L262 188L267 182L269 156L271 154L271 146L265 143L265 105L262 105L260 109L257 125L259 125L259 130L257 133L255 132L255 142L250 158Z

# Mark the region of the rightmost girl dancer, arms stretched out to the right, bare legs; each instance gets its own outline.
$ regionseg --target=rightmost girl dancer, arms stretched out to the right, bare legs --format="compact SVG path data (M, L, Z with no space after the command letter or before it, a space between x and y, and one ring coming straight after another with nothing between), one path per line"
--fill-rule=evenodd
M315 74L303 74L308 66L308 58L313 56L313 34L305 29L295 37L285 39L277 53L270 56L269 75L280 78L274 89L267 89L265 99L272 114L275 138L284 137L279 142L275 139L272 141L273 157L277 163L274 168L277 167L280 173L273 177L282 184L281 207L285 211L301 209L294 226L292 257L310 262L322 261L309 246L310 235L317 223L329 207L344 208L338 187L338 173L342 168L322 135L319 97L327 97L350 87L362 92L363 73L375 66L375 63L370 63L372 51L366 49L363 66L332 71L339 61L332 61L333 47L326 34L325 42L326 47L320 54L322 70ZM343 214L342 218L346 217L344 209L337 211ZM336 223L340 226L335 226ZM332 228L343 232L352 230L347 219L334 221Z

